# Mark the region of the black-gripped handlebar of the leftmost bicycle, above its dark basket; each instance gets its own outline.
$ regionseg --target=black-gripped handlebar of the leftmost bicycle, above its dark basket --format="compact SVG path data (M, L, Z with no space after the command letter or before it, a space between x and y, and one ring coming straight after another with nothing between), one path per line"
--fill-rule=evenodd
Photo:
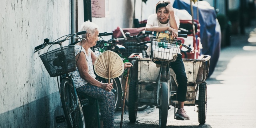
M49 44L60 44L60 43L62 43L62 42L64 42L64 41L66 41L66 40L67 40L69 37L71 37L71 36L74 36L74 39L84 39L84 38L75 38L76 36L81 35L81 34L86 34L86 31L77 32L77 33L74 33L74 34L68 34L68 35L66 36L66 38L64 38L63 40L57 41L57 42L50 42L50 40L49 40L48 38L46 38L46 39L44 39L44 43L43 43L43 44L40 44L40 45L38 45L38 46L35 47L34 53L37 52L37 51L39 51L39 50L41 50L41 49L43 49L45 46L47 46L47 45L49 45ZM62 37L63 37L63 36L62 36ZM80 40L80 41L81 41L81 40ZM76 42L74 42L74 43L72 43L72 44L70 44L70 45L75 45L75 44L77 44L77 43L80 42L80 41L76 41Z

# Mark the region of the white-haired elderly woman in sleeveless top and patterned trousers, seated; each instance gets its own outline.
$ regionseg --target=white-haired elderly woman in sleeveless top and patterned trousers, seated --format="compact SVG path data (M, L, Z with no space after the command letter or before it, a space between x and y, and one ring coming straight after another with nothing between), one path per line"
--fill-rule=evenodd
M80 43L75 45L76 55L76 71L74 71L74 83L78 92L83 92L88 96L98 99L100 105L101 119L104 128L114 127L114 103L115 95L111 92L112 83L102 83L95 79L93 70L94 62L97 58L90 47L96 45L98 41L99 30L98 26L90 21L82 24L81 31L86 31L82 35ZM131 63L125 63L124 67L131 67Z

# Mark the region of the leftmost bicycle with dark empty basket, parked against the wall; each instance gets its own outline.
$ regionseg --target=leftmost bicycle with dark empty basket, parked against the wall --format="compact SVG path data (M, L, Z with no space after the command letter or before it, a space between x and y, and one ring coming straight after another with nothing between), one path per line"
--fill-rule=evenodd
M66 119L69 128L86 127L82 107L89 104L88 99L80 99L72 78L72 72L76 70L74 46L72 45L80 42L83 39L78 36L81 34L86 34L86 31L68 34L63 40L59 39L63 38L64 36L58 38L58 41L54 40L53 42L50 42L50 40L46 38L44 39L43 44L35 47L34 51L38 52L48 45L60 45L60 48L56 48L50 52L48 52L48 48L46 53L40 55L40 58L46 70L50 74L50 77L57 77L58 81L58 76L60 76L61 83L59 84L58 81L58 89L65 116L57 116L56 122L65 122ZM70 44L69 46L62 46L62 42L70 40L70 37L73 39L78 39L78 41Z

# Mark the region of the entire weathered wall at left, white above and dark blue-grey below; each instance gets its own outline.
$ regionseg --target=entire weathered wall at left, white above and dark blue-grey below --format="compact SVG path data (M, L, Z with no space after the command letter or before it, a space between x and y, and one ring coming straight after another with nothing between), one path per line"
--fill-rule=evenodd
M70 0L1 0L0 128L50 128L60 108L34 47L70 33Z

